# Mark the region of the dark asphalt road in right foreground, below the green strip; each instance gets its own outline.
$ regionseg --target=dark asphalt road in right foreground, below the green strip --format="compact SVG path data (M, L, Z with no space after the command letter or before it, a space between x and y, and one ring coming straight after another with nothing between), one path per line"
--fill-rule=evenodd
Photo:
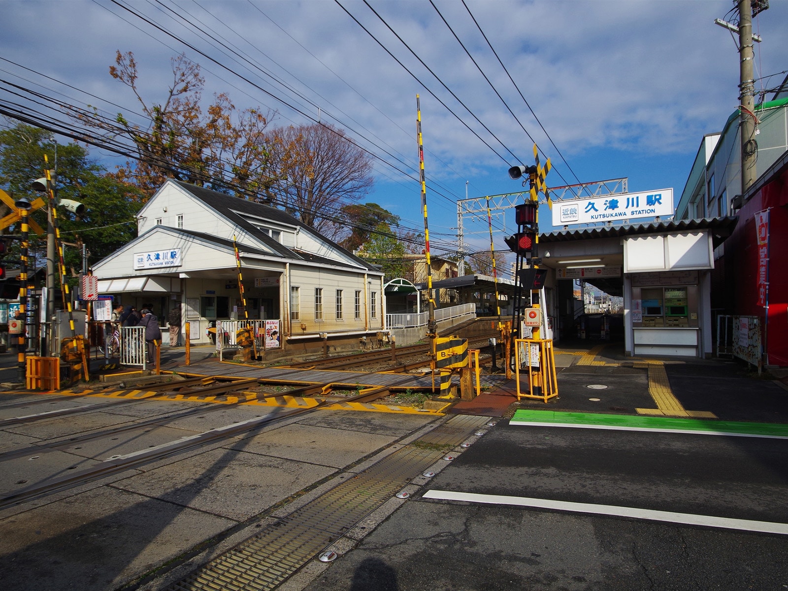
M307 589L786 589L788 535L753 531L788 523L786 455L788 440L500 421ZM478 502L424 496L447 492ZM667 521L581 512L599 505Z

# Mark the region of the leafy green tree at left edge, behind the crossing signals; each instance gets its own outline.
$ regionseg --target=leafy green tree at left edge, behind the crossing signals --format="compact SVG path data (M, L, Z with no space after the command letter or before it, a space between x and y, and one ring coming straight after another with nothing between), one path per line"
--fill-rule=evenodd
M46 201L46 194L30 188L32 180L46 176L44 154L50 169L55 171L56 198L72 199L85 206L80 217L74 217L62 207L58 210L61 240L84 242L91 263L110 255L136 236L135 216L142 199L139 190L107 174L88 158L84 147L76 143L56 144L43 129L19 124L0 132L0 187L14 199L24 196L33 201L41 196ZM46 208L34 211L32 218L46 229ZM46 236L31 233L31 248L35 258L43 261ZM66 247L65 263L69 269L81 269L80 249Z

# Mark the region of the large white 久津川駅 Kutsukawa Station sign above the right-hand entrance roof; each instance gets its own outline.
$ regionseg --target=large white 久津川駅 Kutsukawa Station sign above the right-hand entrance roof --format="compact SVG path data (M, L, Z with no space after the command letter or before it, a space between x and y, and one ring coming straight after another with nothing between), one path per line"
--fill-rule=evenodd
M558 201L552 208L552 225L593 224L637 217L673 215L673 189L642 193L601 195L590 199Z

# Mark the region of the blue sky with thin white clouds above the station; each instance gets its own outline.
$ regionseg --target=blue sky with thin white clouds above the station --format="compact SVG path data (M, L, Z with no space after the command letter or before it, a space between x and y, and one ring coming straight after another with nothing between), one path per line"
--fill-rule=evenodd
M362 203L423 232L418 95L430 243L433 254L449 254L458 200L522 191L507 169L533 164L533 143L541 162L551 158L548 187L626 177L630 192L673 188L678 203L704 134L721 131L738 106L738 37L714 24L737 20L733 8L730 0L6 0L0 106L58 117L27 91L14 94L17 85L134 121L136 98L109 75L115 52L134 53L150 102L165 98L170 60L183 53L202 68L206 105L225 92L240 109L276 113L272 125L344 128L374 155L375 187ZM753 32L763 38L756 91L777 87L788 69L788 0L771 0ZM97 148L91 157L110 169L125 163ZM551 231L546 206L540 218L541 232ZM507 250L514 212L496 214L492 228L496 251ZM469 251L489 250L485 216L463 217L463 229Z

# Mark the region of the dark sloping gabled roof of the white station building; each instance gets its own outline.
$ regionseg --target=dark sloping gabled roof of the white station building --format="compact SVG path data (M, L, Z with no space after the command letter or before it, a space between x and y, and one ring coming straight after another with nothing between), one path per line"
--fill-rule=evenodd
M273 252L283 258L302 260L304 262L325 263L333 266L350 266L347 262L341 260L329 259L319 255L314 255L307 251L288 248L284 246L284 244L277 242L277 240L273 240L273 238L266 232L258 229L258 227L252 224L251 221L248 221L246 217L243 217L243 214L247 214L251 217L258 217L262 220L268 220L274 224L281 224L285 226L291 226L293 228L303 229L309 232L312 236L317 237L318 240L322 240L330 247L340 251L343 255L346 255L362 268L368 269L370 271L378 271L375 266L370 265L370 263L353 255L351 252L346 251L343 247L340 247L338 244L332 240L329 240L314 228L304 224L303 221L300 221L297 217L288 214L286 211L278 210L276 207L263 205L262 203L247 201L247 199L241 199L240 197L233 197L232 195L225 195L224 193L211 191L210 189L203 187L197 187L194 184L184 183L181 180L171 180L170 182L177 184L180 188L184 189L184 191L188 191L191 195L194 195L196 199L199 199L205 203L206 206L209 206L218 214L221 214L232 221L232 223L238 225L239 228L243 229L251 236L254 236L256 240L266 244L266 247L269 247ZM215 236L209 236L209 239L213 242L220 242L221 240ZM243 251L250 252L251 249L244 245ZM269 253L264 254L269 255Z

